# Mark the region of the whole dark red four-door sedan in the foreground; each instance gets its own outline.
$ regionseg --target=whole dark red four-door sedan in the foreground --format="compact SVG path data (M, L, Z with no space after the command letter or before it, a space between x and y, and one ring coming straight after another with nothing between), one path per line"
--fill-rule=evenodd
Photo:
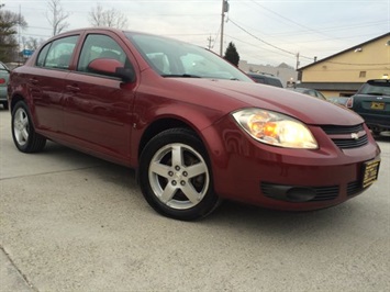
M259 87L208 49L156 35L57 35L12 71L9 102L19 150L51 139L135 168L147 202L179 220L205 216L221 199L323 209L367 190L379 171L359 115Z

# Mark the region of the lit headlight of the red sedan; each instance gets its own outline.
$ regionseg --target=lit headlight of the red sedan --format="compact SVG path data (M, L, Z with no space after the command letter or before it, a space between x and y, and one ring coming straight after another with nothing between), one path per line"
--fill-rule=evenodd
M316 149L317 143L300 121L272 111L245 109L232 114L255 139L287 148Z

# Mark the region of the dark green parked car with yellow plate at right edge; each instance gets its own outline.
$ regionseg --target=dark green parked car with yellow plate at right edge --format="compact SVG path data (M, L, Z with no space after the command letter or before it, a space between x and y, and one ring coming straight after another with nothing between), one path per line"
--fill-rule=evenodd
M390 131L390 80L368 80L350 97L347 106L363 116L374 134Z

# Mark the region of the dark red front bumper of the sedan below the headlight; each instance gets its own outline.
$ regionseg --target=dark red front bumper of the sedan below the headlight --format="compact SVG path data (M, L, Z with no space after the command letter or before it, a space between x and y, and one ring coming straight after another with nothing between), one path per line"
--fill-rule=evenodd
M226 199L291 211L327 207L365 191L364 164L380 160L365 125L350 143L346 133L335 141L335 133L311 127L320 149L307 150L260 144L239 128L232 131L232 123L225 120L204 132L214 137L209 148L214 189Z

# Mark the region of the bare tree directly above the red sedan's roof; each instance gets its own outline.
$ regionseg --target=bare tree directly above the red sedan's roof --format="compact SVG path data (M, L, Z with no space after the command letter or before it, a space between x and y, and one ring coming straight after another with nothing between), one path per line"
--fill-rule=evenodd
M104 10L103 7L98 3L97 7L92 8L89 12L89 23L92 26L126 29L127 18L114 8Z

